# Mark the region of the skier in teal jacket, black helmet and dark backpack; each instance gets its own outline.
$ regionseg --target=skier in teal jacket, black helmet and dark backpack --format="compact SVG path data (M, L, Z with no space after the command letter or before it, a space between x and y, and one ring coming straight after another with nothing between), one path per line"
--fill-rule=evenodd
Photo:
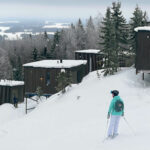
M124 103L118 96L119 91L111 91L112 101L109 106L107 119L110 119L107 136L108 138L115 138L118 135L118 126L121 116L124 116Z

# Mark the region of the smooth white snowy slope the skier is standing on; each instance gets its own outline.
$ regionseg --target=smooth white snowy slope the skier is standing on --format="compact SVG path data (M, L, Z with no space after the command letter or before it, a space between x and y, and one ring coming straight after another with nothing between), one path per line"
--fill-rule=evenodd
M149 150L150 75L141 80L133 68L97 78L90 73L64 95L54 95L34 111L0 124L2 150ZM120 135L102 142L110 91L118 89L125 102ZM2 106L1 106L2 107ZM1 110L0 107L0 110ZM5 111L5 110L4 110ZM1 123L1 117L0 117Z

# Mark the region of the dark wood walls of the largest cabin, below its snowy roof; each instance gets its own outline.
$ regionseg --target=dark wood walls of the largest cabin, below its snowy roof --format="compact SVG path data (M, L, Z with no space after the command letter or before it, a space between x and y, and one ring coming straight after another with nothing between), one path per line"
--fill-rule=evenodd
M24 67L25 93L35 93L37 87L41 87L43 94L56 93L56 78L62 68ZM71 71L73 83L81 82L86 75L86 65L72 68L63 68Z

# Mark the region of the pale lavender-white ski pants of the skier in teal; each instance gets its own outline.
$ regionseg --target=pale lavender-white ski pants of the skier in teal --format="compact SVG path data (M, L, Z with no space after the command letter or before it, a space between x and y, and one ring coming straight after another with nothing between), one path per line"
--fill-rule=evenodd
M119 126L120 118L121 116L111 115L108 133L107 133L108 136L118 134L118 126Z

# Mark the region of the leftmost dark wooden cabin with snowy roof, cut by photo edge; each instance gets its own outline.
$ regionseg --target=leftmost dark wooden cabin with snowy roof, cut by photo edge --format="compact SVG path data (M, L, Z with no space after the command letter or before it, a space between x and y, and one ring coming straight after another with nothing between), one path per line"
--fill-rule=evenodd
M0 80L0 104L14 103L14 97L18 102L24 101L24 82Z

